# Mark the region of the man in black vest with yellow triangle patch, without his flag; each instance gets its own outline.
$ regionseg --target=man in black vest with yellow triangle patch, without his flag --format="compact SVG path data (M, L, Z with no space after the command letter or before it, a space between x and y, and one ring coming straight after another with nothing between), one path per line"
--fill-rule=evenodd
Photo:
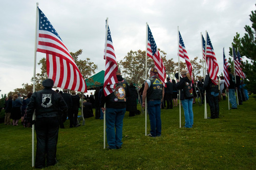
M148 115L150 115L151 131L148 136L161 136L161 102L163 101L164 88L161 80L157 77L157 69L151 68L150 79L145 81L142 94L142 106L145 107L147 98Z

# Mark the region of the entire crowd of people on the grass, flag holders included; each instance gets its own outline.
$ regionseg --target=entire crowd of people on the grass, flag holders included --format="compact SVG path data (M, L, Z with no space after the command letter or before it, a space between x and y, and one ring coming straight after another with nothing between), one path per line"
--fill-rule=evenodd
M75 91L69 93L67 89L52 90L53 80L46 79L42 81L45 88L40 91L30 92L23 97L20 93L8 96L5 105L5 125L18 126L20 119L24 127L31 127L35 124L37 138L35 167L44 168L45 162L47 166L56 163L58 130L65 128L64 123L67 118L70 128L80 126L79 108L83 110L84 118L94 116L93 108L95 108L95 119L103 119L103 112L105 112L106 137L108 148L111 150L122 148L124 114L126 111L129 111L129 116L140 114L137 109L138 103L141 103L142 108L147 107L151 126L150 134L148 134L150 137L161 136L161 109L177 107L178 100L181 101L184 110L184 128L193 128L193 104L196 103L196 98L201 98L201 102L204 102L204 96L206 96L211 119L219 118L219 101L221 98L226 100L226 91L229 94L231 109L237 109L236 90L239 105L248 100L248 92L243 88L243 81L239 77L234 77L230 68L228 71L229 87L225 87L223 76L217 84L214 83L208 71L205 79L198 77L198 82L193 84L190 74L185 70L180 72L181 77L178 76L179 74L175 75L176 80L166 78L166 87L164 87L163 82L158 78L157 69L151 68L150 77L137 92L134 84L129 85L118 69L116 72L118 83L115 91L105 96L103 88L97 87L94 94L91 92L90 96L82 96L82 104L81 96ZM34 112L36 120L32 118Z

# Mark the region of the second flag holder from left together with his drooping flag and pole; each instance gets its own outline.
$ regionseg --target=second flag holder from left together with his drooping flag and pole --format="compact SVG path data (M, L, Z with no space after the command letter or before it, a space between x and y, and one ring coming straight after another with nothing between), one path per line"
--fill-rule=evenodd
M106 125L106 138L109 149L122 148L123 117L126 110L126 98L129 96L129 85L122 78L117 68L111 32L106 18L106 38L104 50L105 76L100 107L104 112L104 128ZM104 130L105 132L105 130ZM105 134L104 146L105 149Z

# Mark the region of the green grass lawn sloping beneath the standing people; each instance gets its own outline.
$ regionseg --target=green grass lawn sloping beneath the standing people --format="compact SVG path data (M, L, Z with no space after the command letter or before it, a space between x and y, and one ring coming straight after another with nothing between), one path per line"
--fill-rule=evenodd
M219 119L204 119L204 107L194 104L192 129L179 128L179 107L161 110L162 136L156 138L145 136L144 114L126 112L120 150L103 149L103 120L87 118L78 128L67 120L59 130L58 164L45 169L256 169L253 97L237 110L221 101ZM0 169L33 169L31 128L0 124L0 136Z

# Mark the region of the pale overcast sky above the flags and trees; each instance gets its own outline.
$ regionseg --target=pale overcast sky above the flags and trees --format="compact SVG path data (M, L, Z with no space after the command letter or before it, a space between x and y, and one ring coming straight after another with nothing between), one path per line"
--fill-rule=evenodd
M189 59L202 58L200 33L207 30L223 71L223 53L238 32L251 26L249 14L255 10L255 0L130 0L130 1L2 1L0 7L0 94L22 88L33 77L35 49L36 2L52 23L70 52L83 50L79 59L90 58L104 70L103 60L105 19L109 27L117 61L130 50L145 50L146 22L157 47L177 57L177 27L183 38ZM45 54L37 53L37 62ZM244 59L245 60L245 59ZM36 72L40 66L36 66Z

